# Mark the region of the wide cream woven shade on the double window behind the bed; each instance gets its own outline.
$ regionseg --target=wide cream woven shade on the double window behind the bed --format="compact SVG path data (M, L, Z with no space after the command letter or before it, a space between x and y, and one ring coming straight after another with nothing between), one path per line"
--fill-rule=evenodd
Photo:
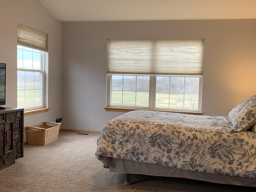
M109 74L202 75L204 39L108 40Z

